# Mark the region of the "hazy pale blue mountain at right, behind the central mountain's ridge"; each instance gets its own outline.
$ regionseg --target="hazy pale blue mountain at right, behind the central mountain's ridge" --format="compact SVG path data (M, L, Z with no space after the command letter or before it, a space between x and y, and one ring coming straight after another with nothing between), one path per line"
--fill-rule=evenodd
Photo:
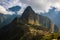
M60 11L56 11L56 8L52 7L48 13L41 13L41 15L47 16L54 24L60 27Z

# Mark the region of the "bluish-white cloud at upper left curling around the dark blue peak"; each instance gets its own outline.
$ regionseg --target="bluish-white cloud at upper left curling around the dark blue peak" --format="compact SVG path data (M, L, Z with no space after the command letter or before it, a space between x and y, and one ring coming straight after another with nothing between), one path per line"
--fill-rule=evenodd
M21 7L21 10L18 12L18 14L23 13L24 9L26 8L26 4L21 3L20 0L1 0L0 5L5 7L5 9L18 5Z

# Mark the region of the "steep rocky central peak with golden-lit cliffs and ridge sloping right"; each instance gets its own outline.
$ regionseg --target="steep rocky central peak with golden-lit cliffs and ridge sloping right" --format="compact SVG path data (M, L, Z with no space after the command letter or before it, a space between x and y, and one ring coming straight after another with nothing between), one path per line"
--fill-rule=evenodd
M42 26L49 29L51 32L57 32L55 30L55 24L47 17L36 14L30 6L28 6L21 16L21 22L25 24Z

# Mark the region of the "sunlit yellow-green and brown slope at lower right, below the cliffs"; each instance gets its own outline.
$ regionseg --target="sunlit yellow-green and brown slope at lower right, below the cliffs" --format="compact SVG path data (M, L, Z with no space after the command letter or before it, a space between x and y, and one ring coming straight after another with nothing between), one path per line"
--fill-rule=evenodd
M20 40L52 40L58 39L60 37L59 33L50 33L46 30L44 31L36 29L37 27L38 26L35 27L34 25L30 25L29 31L25 32L24 35L20 38Z

